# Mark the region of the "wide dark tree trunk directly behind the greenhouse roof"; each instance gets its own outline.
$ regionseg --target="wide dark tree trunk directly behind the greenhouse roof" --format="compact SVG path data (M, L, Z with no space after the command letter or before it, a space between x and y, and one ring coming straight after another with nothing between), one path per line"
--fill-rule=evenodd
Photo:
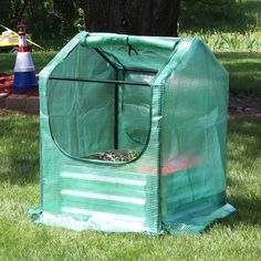
M81 1L88 31L177 36L180 0Z

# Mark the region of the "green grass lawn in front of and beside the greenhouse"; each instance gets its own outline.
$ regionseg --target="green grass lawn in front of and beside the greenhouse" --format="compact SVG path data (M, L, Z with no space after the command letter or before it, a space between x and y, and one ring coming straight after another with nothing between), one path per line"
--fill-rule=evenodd
M0 117L0 260L260 260L261 117L229 121L228 201L239 213L196 237L74 232L36 226L39 118Z

